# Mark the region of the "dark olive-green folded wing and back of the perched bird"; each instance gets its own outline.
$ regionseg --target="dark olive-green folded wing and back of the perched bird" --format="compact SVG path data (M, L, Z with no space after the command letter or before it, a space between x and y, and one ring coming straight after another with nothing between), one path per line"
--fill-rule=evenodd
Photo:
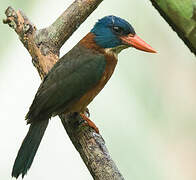
M75 47L62 57L41 83L26 116L28 122L65 111L98 83L105 70L103 55Z

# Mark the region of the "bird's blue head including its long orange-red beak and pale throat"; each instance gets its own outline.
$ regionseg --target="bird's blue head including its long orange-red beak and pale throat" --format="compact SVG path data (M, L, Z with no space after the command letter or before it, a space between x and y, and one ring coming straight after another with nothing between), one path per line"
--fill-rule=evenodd
M97 45L110 48L116 53L128 47L151 53L156 52L135 33L127 21L116 16L106 16L100 19L91 33L95 35L94 40Z

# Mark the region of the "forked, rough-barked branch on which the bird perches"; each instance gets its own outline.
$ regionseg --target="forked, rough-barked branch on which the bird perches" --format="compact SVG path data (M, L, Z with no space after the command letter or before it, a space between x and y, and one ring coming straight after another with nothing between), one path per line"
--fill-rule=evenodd
M37 30L21 11L15 11L11 7L7 8L7 19L3 22L16 31L43 79L58 61L60 47L101 1L76 0L50 27L42 30ZM100 134L84 126L84 120L78 114L62 114L59 117L95 180L124 179Z

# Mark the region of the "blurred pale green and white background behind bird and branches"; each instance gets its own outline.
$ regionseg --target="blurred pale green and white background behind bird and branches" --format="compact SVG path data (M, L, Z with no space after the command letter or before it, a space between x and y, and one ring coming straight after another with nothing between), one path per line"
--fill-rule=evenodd
M7 0L37 28L49 26L72 0ZM196 59L149 0L105 0L61 49L70 50L105 15L127 19L158 54L128 49L90 104L91 119L127 180L196 179ZM16 33L0 23L0 178L11 170L28 126L24 117L40 84ZM53 118L25 180L92 177L59 119Z

